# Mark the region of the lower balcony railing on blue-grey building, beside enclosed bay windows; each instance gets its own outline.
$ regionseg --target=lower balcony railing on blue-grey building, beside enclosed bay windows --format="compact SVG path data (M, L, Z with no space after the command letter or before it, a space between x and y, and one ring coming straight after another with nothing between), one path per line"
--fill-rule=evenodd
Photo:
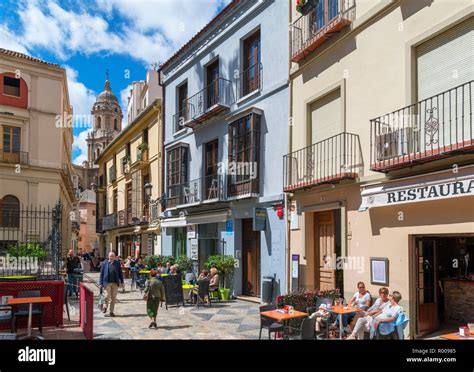
M215 174L188 181L181 185L169 186L166 206L167 208L173 208L223 201L225 199L224 179L223 174Z

